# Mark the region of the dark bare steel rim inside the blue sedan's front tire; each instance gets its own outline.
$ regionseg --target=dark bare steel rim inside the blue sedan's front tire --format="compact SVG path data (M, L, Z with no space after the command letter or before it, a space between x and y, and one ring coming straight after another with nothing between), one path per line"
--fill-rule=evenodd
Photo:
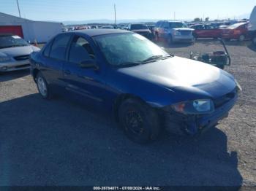
M126 128L132 133L140 135L143 133L143 119L136 111L128 111L126 114Z

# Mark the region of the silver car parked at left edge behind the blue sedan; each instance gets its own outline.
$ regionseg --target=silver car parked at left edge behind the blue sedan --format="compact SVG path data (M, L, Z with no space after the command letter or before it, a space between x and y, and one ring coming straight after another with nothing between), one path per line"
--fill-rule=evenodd
M20 36L0 34L0 72L29 69L29 55L38 50Z

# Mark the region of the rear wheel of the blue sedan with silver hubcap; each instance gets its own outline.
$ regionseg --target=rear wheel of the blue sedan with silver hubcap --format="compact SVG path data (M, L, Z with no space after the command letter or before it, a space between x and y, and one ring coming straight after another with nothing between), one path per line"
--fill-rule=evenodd
M52 98L52 95L50 93L49 85L46 82L45 77L43 77L40 71L37 73L36 82L37 82L37 90L39 94L42 96L42 98L50 100L50 98ZM44 83L45 90L42 90L42 87L40 87L41 83Z

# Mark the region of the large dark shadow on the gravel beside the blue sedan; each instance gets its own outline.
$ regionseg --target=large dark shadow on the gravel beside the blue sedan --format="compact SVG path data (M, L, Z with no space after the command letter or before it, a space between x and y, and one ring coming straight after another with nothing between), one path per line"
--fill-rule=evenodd
M68 98L27 95L0 103L0 113L0 185L242 184L237 153L217 128L138 145L109 114Z

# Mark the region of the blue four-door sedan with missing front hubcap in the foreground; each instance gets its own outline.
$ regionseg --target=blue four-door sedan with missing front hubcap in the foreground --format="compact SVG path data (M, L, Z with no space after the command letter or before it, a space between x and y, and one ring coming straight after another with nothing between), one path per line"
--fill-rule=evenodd
M42 98L64 93L112 112L138 143L157 139L163 127L193 136L214 127L240 88L226 71L110 29L57 35L31 54L31 75Z

